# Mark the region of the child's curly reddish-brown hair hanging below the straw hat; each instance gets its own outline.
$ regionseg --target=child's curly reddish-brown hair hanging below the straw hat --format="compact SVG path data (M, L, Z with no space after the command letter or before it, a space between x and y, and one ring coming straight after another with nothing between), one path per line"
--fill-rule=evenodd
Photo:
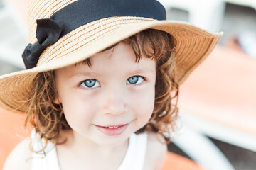
M142 55L156 61L154 111L149 122L146 123L144 128L137 130L137 133L157 132L165 137L166 142L170 142L170 132L176 130L175 120L178 113L175 40L164 31L147 29L121 42L132 46L136 62L139 62ZM107 47L105 50L114 50L114 47L119 43ZM90 59L82 62L86 62L90 66ZM61 103L53 103L56 96L58 96L54 70L37 74L30 96L31 100L26 110L25 126L30 122L36 133L40 135L41 140L45 140L46 144L48 141L56 144L60 131L70 130L71 128L65 120Z

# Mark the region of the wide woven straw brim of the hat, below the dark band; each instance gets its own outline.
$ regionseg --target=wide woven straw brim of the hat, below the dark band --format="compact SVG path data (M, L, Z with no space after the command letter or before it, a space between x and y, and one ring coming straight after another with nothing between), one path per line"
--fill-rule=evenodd
M85 60L148 28L163 30L174 37L178 84L182 84L193 69L203 62L223 35L210 33L186 22L141 17L111 17L88 23L48 47L39 58L37 67L1 76L0 107L23 113L28 107L28 94L36 74Z

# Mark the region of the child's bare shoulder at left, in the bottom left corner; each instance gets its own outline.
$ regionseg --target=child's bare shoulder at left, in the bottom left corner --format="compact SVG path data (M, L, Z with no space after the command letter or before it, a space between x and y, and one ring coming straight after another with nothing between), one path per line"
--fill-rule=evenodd
M4 170L31 169L32 151L29 149L29 138L21 141L9 154L4 164Z

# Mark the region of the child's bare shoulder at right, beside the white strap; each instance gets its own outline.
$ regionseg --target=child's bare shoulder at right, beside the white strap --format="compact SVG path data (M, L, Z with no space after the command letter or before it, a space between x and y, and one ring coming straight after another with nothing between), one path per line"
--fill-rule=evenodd
M158 170L164 164L167 146L164 137L155 132L148 132L144 169Z

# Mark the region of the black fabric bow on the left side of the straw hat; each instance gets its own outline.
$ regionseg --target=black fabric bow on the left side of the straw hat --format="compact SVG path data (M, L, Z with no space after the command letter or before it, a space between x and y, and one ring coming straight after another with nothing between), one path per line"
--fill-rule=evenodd
M63 30L63 26L50 18L38 19L36 23L36 38L38 41L34 45L28 44L22 54L26 69L36 67L43 50L57 42Z

